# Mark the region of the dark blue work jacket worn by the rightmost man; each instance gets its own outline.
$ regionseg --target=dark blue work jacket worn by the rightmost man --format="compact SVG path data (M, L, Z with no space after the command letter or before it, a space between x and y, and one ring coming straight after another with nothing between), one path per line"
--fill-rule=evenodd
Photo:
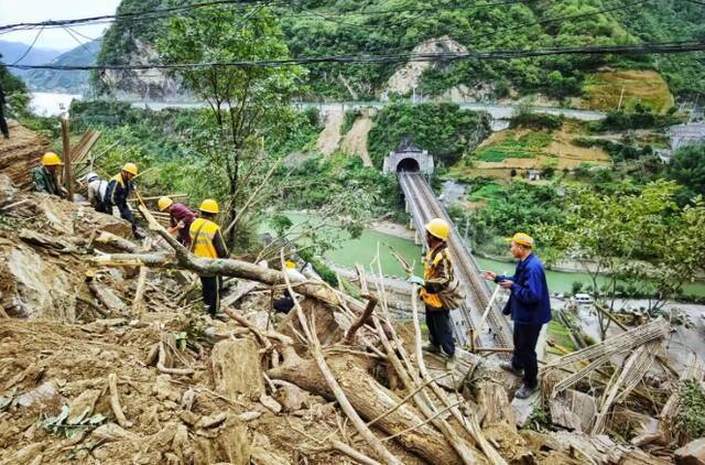
M502 313L516 324L544 324L551 321L551 298L543 263L531 253L517 263L513 277L498 275L495 282L510 280L511 294Z

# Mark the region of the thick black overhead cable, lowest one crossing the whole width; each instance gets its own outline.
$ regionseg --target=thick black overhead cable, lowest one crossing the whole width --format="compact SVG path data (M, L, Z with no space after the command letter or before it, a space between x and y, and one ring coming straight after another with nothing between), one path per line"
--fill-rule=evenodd
M551 55L576 54L674 54L705 51L705 41L663 42L641 45L603 45L540 50L505 50L491 52L468 53L403 53L387 55L336 55L318 57L297 57L284 60L258 60L206 63L175 63L175 64L135 64L135 65L8 65L18 69L54 69L54 71L139 71L139 69L200 69L207 67L281 67L290 65L305 65L317 63L334 64L377 64L400 62L437 62L465 60L514 60Z

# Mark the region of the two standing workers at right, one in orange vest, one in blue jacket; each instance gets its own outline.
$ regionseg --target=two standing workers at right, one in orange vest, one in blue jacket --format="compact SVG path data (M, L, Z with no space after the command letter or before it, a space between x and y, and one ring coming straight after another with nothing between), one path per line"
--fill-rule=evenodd
M434 218L425 225L429 251L424 259L424 277L410 277L409 282L419 285L419 295L426 310L429 344L426 352L447 356L446 368L456 361L455 340L451 311L459 305L457 279L448 252L451 225ZM533 253L533 238L517 233L508 239L509 250L517 260L513 275L498 275L485 271L482 277L509 291L509 300L502 313L513 321L513 352L502 369L523 377L521 388L514 393L527 399L539 389L536 344L543 325L551 321L551 299L543 263Z

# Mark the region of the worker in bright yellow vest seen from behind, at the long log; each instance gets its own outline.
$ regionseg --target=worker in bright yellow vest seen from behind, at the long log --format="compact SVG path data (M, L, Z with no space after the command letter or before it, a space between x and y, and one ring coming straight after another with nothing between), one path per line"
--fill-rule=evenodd
M191 224L191 251L198 257L217 259L228 258L228 249L220 234L220 227L214 221L219 212L218 203L212 198L203 201L199 207L200 217ZM200 275L200 288L206 311L214 317L220 310L219 275Z

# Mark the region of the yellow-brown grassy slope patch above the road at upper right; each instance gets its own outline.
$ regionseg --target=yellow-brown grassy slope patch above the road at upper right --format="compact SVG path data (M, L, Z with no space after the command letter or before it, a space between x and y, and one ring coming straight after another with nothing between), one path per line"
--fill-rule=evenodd
M654 112L664 113L673 107L674 100L669 85L653 71L619 71L594 73L586 76L583 93L585 107L599 110L616 110L622 88L622 110L629 110L638 102Z

